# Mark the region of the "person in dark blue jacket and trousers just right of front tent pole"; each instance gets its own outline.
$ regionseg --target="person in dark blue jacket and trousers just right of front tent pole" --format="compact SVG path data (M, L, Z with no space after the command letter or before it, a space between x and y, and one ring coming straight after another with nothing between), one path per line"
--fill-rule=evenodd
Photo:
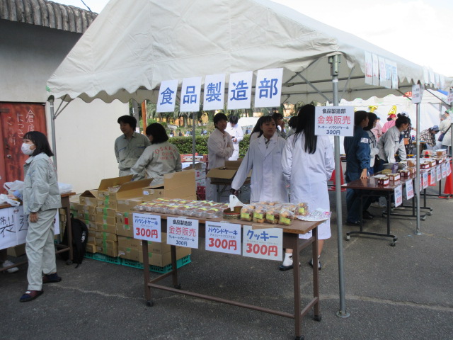
M369 169L369 135L363 130L368 125L368 113L366 111L357 111L354 115L354 135L345 137L344 146L346 153L346 183L355 181L356 179L367 179ZM362 192L362 194L365 192ZM373 218L367 209L371 200L365 198L363 200L362 217L368 220ZM348 217L346 217L346 225L361 225L360 221L360 196L356 190L348 189L346 193L346 208Z

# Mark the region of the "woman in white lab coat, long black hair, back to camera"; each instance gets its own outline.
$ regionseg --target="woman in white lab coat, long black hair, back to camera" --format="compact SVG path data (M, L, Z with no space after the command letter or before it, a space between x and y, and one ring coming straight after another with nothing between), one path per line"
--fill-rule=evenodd
M287 138L282 154L283 175L291 188L291 203L308 203L309 210L322 208L330 210L327 181L331 179L335 164L333 147L328 137L314 134L314 106L305 105L297 116L297 129ZM311 232L299 235L311 237ZM319 255L324 239L331 237L331 222L327 220L318 226ZM309 261L313 266L313 259ZM292 266L292 249L286 249L285 260L280 270L286 271ZM319 263L321 269L321 263Z

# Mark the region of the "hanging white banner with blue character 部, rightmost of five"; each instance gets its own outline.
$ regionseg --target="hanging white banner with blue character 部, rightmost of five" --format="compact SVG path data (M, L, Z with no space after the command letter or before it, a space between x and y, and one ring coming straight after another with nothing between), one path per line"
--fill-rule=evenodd
M283 69L260 69L256 76L255 107L280 106L282 98Z

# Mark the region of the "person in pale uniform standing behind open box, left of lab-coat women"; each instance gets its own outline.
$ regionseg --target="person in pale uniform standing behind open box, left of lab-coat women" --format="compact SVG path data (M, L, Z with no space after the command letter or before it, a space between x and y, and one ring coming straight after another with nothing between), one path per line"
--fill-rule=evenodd
M227 124L226 115L214 115L214 131L207 139L207 169L215 169L225 165L225 160L233 154L234 147L231 136L225 131ZM206 178L206 199L217 200L217 186L211 184L211 179Z

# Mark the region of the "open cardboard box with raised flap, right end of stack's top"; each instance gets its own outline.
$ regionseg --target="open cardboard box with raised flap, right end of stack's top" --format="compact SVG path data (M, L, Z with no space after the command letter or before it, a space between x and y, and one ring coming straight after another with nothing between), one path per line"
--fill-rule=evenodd
M149 186L143 189L143 200L156 198L188 198L196 196L195 170L173 172L164 175L164 186Z

